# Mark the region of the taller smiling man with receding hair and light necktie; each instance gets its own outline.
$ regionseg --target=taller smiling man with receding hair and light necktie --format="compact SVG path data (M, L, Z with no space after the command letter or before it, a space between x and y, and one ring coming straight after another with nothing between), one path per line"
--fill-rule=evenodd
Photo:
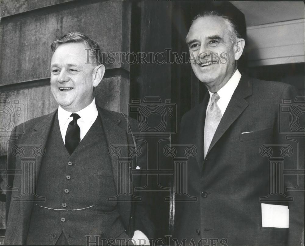
M192 69L208 92L181 120L179 144L197 148L188 160L188 195L196 201L176 196L174 238L186 245L301 245L302 113L298 141L289 141L281 132L289 132L291 122L279 111L283 100L292 104L298 93L289 84L239 72L245 23L236 21L243 14L234 11L205 9L186 37ZM278 159L269 163L268 154ZM283 177L283 169L290 175Z

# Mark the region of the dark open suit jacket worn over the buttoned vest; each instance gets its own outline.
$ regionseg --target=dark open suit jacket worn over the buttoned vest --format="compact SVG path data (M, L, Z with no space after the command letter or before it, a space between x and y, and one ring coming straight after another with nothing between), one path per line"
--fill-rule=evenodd
M97 107L99 111L99 116L102 120L102 125L106 135L106 141L108 147L112 145L120 145L120 155L116 155L114 151L111 158L111 165L113 170L114 182L116 189L118 189L119 182L118 180L118 158L128 157L129 148L134 146L133 136L130 134L128 127L133 130L136 130L138 127L137 122L134 119L129 118L129 126L127 120L124 116L117 112L112 112L105 110L103 108ZM46 146L48 140L48 134L52 127L53 119L56 115L56 111L51 114L41 116L35 119L31 119L24 123L24 133L16 134L20 132L18 130L21 125L17 126L14 129L14 132L11 134L9 148L8 148L8 169L9 170L19 170L21 158L24 156L30 156L31 153L22 153L18 154L18 150L15 151L15 154L12 153L12 149L16 145L34 145L34 146ZM98 117L99 117L98 116ZM20 128L21 129L21 128ZM132 130L132 131L133 131ZM142 145L142 143L136 142L137 145ZM145 146L142 146L142 149L145 150ZM26 150L26 147L24 147ZM111 150L109 150L111 152ZM16 154L17 152L17 154ZM33 152L34 153L34 152ZM143 167L145 165L145 153L143 155L134 158L132 161L132 169L136 169L137 166ZM35 156L35 177L36 182L41 166L42 155L38 154ZM127 184L131 184L131 177L129 176L125 180ZM132 179L132 188L140 185L140 178ZM8 176L8 185L10 187L22 187L22 178L21 175L9 175ZM15 190L13 188L13 190ZM13 195L16 196L16 195ZM5 244L25 244L27 239L27 231L31 217L31 211L34 204L33 198L34 194L23 194L23 202L12 201L12 193L7 193L6 198L6 235L5 235ZM141 230L147 237L152 237L153 225L149 220L149 207L143 202L131 202L133 197L131 194L122 194L119 196L120 200L118 201L118 211L120 213L123 225L125 227L126 233L129 237L132 237L135 230ZM129 200L129 201L126 201Z

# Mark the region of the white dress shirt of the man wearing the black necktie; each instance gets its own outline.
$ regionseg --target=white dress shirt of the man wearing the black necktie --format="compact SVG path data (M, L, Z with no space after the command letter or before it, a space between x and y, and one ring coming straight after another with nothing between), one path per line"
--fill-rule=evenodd
M86 108L83 108L80 111L74 113L81 116L81 118L77 120L77 125L81 129L81 140L82 140L84 136L87 134L90 127L95 122L97 116L99 115L99 112L97 111L95 105L95 99L93 98L93 101ZM62 107L58 105L58 121L59 121L60 133L63 138L64 144L66 144L65 137L66 137L68 125L70 121L73 120L73 117L70 117L71 114L72 114L71 112L64 110Z

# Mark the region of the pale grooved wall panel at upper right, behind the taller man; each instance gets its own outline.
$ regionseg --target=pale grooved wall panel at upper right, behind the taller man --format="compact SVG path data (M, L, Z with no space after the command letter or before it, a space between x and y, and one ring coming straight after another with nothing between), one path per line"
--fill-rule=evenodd
M248 66L304 62L304 29L305 19L248 27Z

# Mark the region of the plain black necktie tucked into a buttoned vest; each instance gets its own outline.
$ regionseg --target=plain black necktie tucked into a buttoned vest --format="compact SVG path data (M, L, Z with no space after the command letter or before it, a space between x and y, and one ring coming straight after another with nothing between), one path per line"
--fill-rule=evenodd
M78 114L71 114L71 117L73 117L73 120L70 121L68 125L68 129L66 131L66 149L68 150L69 154L71 155L74 151L74 149L77 147L79 142L81 141L81 129L77 125L77 120L81 118Z

